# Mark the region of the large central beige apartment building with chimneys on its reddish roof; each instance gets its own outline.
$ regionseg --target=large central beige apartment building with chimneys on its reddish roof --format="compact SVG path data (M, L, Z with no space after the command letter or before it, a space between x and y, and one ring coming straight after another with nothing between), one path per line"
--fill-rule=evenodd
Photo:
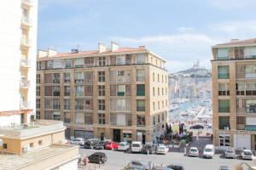
M154 141L167 121L165 60L145 47L38 51L37 117L61 120L67 138Z

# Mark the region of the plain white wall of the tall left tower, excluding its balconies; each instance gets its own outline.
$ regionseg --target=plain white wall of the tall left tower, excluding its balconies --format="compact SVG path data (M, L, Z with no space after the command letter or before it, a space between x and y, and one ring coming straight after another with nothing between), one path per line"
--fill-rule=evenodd
M36 75L36 50L37 50L37 17L38 17L38 1L32 1L32 7L27 8L29 19L32 21L31 26L26 27L26 34L31 40L30 48L21 47L22 37L22 8L21 0L9 0L1 3L0 22L0 49L1 49L1 62L0 62L0 111L20 111L20 96L23 94L26 100L31 101L29 109L35 111L35 75ZM23 27L24 28L24 27ZM26 54L27 53L27 54ZM20 59L21 54L26 54L26 59L31 60L31 68L28 71L23 71L27 74L27 80L31 81L30 88L20 91ZM26 73L27 72L27 73ZM5 118L10 122L12 116ZM25 122L29 122L29 116L26 116ZM15 121L18 123L17 121ZM20 124L20 122L18 123Z

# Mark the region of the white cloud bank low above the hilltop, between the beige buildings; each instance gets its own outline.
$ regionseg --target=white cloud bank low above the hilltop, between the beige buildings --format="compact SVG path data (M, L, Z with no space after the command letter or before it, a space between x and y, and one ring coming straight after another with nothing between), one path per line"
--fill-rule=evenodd
M166 59L166 68L171 72L188 69L196 60L210 68L211 46L219 42L204 34L185 33L139 38L112 37L111 40L118 40L121 45L128 44L131 47L146 45L155 54Z

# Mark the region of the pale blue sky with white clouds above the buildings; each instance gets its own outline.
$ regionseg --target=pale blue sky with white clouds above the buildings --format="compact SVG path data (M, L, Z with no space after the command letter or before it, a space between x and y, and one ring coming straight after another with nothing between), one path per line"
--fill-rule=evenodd
M256 0L38 0L38 49L96 49L98 42L146 46L170 72L199 60L211 68L211 46L256 37Z

